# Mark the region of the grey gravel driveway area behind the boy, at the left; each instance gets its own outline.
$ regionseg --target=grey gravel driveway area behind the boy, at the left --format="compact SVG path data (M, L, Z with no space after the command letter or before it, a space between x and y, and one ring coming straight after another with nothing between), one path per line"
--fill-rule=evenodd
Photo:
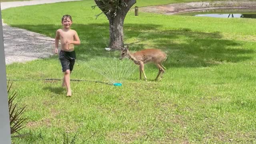
M6 64L26 62L53 55L54 39L3 24Z

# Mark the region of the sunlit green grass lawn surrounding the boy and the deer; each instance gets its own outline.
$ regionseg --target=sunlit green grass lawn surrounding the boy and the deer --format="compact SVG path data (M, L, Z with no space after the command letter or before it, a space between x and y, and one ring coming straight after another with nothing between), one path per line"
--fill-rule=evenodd
M72 79L107 82L90 69L118 54L106 52L108 21L95 20L94 2L65 2L10 8L4 22L54 38L60 19L71 14L72 28L81 39ZM63 12L62 8L69 7ZM256 142L256 30L254 19L166 16L129 12L124 22L125 43L132 51L160 48L168 54L161 82L158 69L147 64L149 81L139 80L138 68L121 87L94 82L71 82L66 98L57 56L6 67L14 82L25 116L30 118L18 144L60 143L63 132L88 143L255 143ZM109 60L109 61L108 61ZM128 60L127 60L128 61ZM110 63L111 64L111 63ZM115 68L113 68L115 69Z

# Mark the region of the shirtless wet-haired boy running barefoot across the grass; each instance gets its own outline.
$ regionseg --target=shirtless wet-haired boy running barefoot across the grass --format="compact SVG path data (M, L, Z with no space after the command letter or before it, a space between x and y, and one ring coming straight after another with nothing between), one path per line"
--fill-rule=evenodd
M62 86L66 86L67 96L71 96L70 74L73 70L76 60L74 45L79 45L80 39L77 32L70 29L72 25L72 17L70 15L67 14L62 16L61 23L63 28L58 29L55 36L55 54L58 54L58 44L60 40L61 50L59 59L62 66L62 72L64 74Z

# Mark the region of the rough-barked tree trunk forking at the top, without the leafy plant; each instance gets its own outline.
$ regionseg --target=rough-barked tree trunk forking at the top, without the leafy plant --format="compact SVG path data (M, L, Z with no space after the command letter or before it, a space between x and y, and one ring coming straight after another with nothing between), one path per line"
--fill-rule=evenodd
M124 19L127 12L130 8L136 3L136 0L121 0L122 2L126 2L127 6L120 6L121 9L114 12L108 12L108 10L104 9L104 4L99 0L94 0L97 6L104 12L109 21L109 36L110 42L109 47L114 50L118 50L124 47Z

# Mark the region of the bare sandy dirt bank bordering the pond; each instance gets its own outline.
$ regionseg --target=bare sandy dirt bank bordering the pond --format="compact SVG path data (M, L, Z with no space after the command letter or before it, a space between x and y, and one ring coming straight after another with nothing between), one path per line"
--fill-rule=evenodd
M250 0L228 0L212 2L187 2L177 4L167 4L159 6L140 7L141 12L153 12L160 14L176 14L179 12L189 12L208 9L226 9L226 8L256 8L256 1Z

